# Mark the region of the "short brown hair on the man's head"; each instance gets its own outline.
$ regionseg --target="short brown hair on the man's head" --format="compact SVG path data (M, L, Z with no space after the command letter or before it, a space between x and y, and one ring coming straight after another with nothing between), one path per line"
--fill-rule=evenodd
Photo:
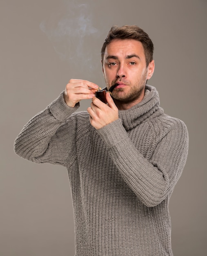
M138 26L113 26L111 27L106 40L103 43L101 49L101 61L103 63L103 58L107 45L111 43L113 39L135 39L142 43L145 51L146 65L148 67L149 63L153 60L154 45L149 38L148 34Z

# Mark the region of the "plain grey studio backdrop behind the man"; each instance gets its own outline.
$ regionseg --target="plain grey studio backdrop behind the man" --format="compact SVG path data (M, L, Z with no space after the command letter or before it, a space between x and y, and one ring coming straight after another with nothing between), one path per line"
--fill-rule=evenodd
M67 171L13 152L24 124L71 78L104 86L100 48L112 25L154 42L161 106L189 130L187 164L171 197L175 256L206 253L206 0L0 1L0 256L73 256ZM89 106L81 102L80 110Z

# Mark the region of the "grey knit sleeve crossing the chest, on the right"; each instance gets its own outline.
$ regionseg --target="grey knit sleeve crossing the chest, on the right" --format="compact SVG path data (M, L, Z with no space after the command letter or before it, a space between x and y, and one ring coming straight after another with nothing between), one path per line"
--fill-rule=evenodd
M157 138L151 159L138 151L120 119L98 133L109 147L123 179L143 204L154 207L173 191L187 159L188 132L182 121L176 119L165 136Z

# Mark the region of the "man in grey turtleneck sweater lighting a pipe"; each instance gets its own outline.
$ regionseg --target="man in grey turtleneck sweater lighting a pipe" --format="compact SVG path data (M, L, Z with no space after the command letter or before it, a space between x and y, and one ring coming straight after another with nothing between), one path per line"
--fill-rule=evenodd
M137 26L112 27L102 46L107 104L98 85L71 79L24 126L15 151L67 168L77 256L173 255L169 198L187 158L185 124L163 113L153 43ZM76 112L80 100L92 99Z

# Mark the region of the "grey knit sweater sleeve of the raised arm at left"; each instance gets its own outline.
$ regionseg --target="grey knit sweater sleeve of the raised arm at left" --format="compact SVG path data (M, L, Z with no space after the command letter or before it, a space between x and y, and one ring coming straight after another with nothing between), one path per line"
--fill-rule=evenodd
M36 163L64 165L76 131L75 122L65 121L78 107L67 106L62 92L24 126L14 142L15 153Z

